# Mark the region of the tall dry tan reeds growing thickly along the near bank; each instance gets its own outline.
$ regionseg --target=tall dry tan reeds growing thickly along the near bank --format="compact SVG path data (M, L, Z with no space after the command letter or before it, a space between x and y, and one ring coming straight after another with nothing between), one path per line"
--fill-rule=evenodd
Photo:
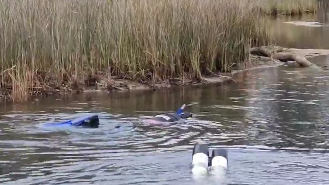
M248 64L250 47L269 41L256 6L256 0L2 0L0 90L25 101L94 74L156 83L227 72L233 63Z

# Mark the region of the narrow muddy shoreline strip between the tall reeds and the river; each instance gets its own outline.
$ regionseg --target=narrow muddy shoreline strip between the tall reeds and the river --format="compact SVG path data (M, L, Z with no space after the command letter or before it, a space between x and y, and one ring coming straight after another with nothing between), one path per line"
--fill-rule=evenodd
M329 55L329 50L325 49L296 49L296 48L283 48L287 52L293 52L301 55L305 58L313 58L317 56ZM84 79L82 82L73 82L71 85L73 88L62 87L60 89L55 89L51 87L44 87L43 94L41 95L31 95L27 102L34 101L36 99L42 99L49 96L64 96L64 95L74 95L80 93L93 93L93 92L112 92L112 91L132 91L132 90L160 90L164 88L172 88L175 86L186 86L186 85L202 85L202 84L226 84L235 82L232 79L232 75L253 70L259 68L270 68L278 67L283 65L280 62L269 57L262 57L250 54L249 64L246 67L232 69L230 73L210 73L208 75L202 75L202 80L193 80L189 77L183 78L169 78L167 80L152 83L151 81L141 79L133 80L124 77L111 76L110 78L94 75L88 79ZM2 102L13 102L10 101L10 95L2 96Z

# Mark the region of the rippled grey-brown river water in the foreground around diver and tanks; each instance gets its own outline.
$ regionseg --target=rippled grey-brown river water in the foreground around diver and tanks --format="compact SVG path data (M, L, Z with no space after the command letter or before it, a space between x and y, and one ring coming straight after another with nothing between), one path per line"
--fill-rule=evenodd
M318 42L322 48L327 43ZM313 62L329 64L329 57ZM236 83L226 85L5 105L0 109L0 182L329 184L328 72L281 66L236 74ZM141 123L183 103L194 120L153 127ZM100 128L40 127L86 112L99 114ZM196 143L227 149L226 176L191 174Z

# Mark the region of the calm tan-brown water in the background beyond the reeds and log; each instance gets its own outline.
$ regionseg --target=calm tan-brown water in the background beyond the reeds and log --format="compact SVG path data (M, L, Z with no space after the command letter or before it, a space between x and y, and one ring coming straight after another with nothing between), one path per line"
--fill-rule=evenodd
M300 17L282 17L269 20L266 18L268 32L275 44L288 48L329 49L329 1L318 0L319 8L316 15ZM292 21L311 21L323 23L323 26L296 26L287 24Z

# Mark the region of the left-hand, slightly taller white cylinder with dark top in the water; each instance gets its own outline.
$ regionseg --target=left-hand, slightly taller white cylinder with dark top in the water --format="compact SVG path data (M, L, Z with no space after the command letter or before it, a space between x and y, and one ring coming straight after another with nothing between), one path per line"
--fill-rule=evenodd
M209 150L207 145L197 144L193 148L192 173L205 175L208 173Z

